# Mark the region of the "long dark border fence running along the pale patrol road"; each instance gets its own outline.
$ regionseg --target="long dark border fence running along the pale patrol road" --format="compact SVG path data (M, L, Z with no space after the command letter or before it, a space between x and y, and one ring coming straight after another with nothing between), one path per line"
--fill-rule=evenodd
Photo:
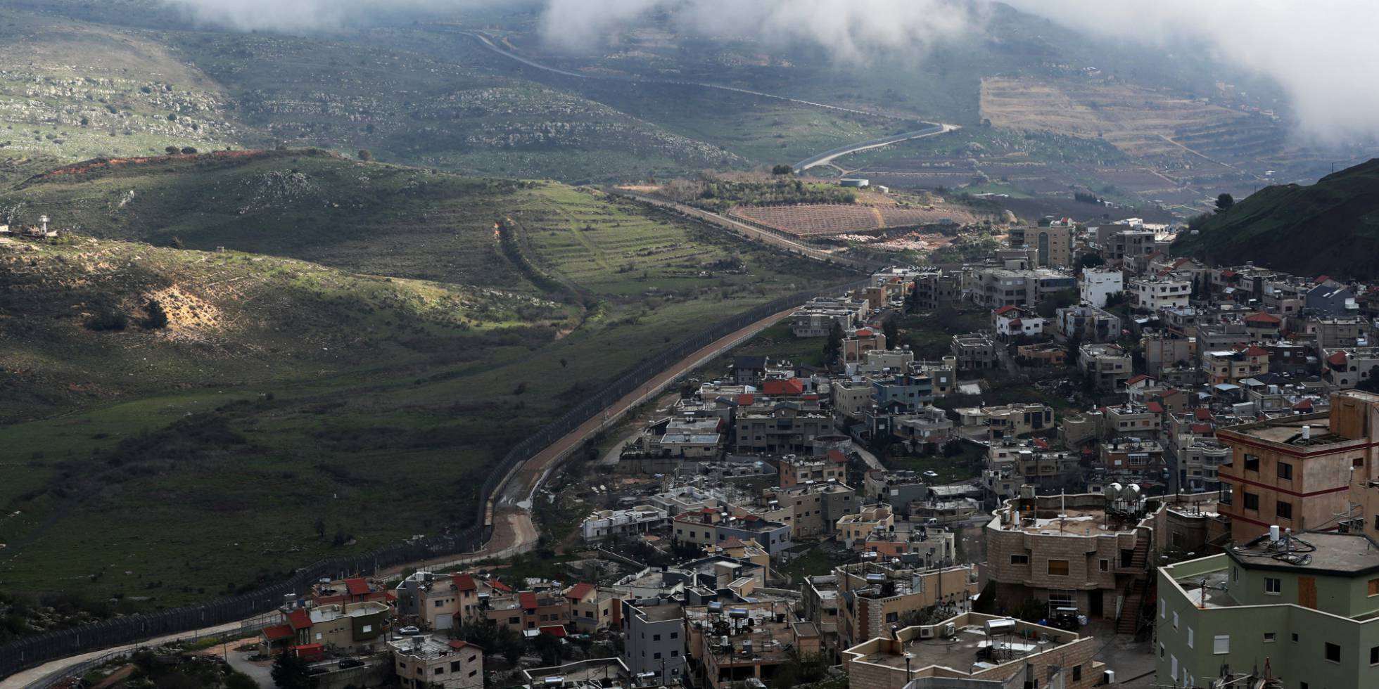
M473 526L445 536L394 543L357 555L342 555L321 559L296 569L292 576L276 584L217 601L171 608L152 613L112 617L79 627L46 631L33 637L15 639L0 645L0 678L61 657L88 653L124 644L134 644L153 637L164 637L203 627L226 624L251 617L254 615L270 612L279 608L288 595L302 595L310 588L312 583L324 577L370 575L405 562L473 551L488 537L487 529L484 528L484 517L488 502L496 496L498 491L502 488L505 477L507 477L519 464L531 459L570 431L578 429L582 423L592 419L610 404L616 402L627 393L632 393L641 384L645 384L656 373L665 371L672 364L703 349L714 340L760 321L774 313L798 306L815 296L837 295L840 292L862 287L867 282L867 280L869 278L863 278L823 289L797 292L758 305L738 316L712 324L633 365L616 379L604 384L597 393L585 397L581 404L571 407L564 415L547 423L541 430L513 445L512 449L507 451L503 459L499 460L498 466L488 471L488 478L479 491Z

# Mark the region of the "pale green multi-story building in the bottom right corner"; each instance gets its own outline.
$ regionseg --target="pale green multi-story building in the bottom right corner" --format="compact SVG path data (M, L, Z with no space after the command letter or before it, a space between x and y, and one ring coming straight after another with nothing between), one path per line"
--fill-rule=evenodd
M1270 540L1256 526L1223 554L1161 568L1154 626L1158 685L1208 686L1230 666L1288 689L1379 686L1379 543Z

